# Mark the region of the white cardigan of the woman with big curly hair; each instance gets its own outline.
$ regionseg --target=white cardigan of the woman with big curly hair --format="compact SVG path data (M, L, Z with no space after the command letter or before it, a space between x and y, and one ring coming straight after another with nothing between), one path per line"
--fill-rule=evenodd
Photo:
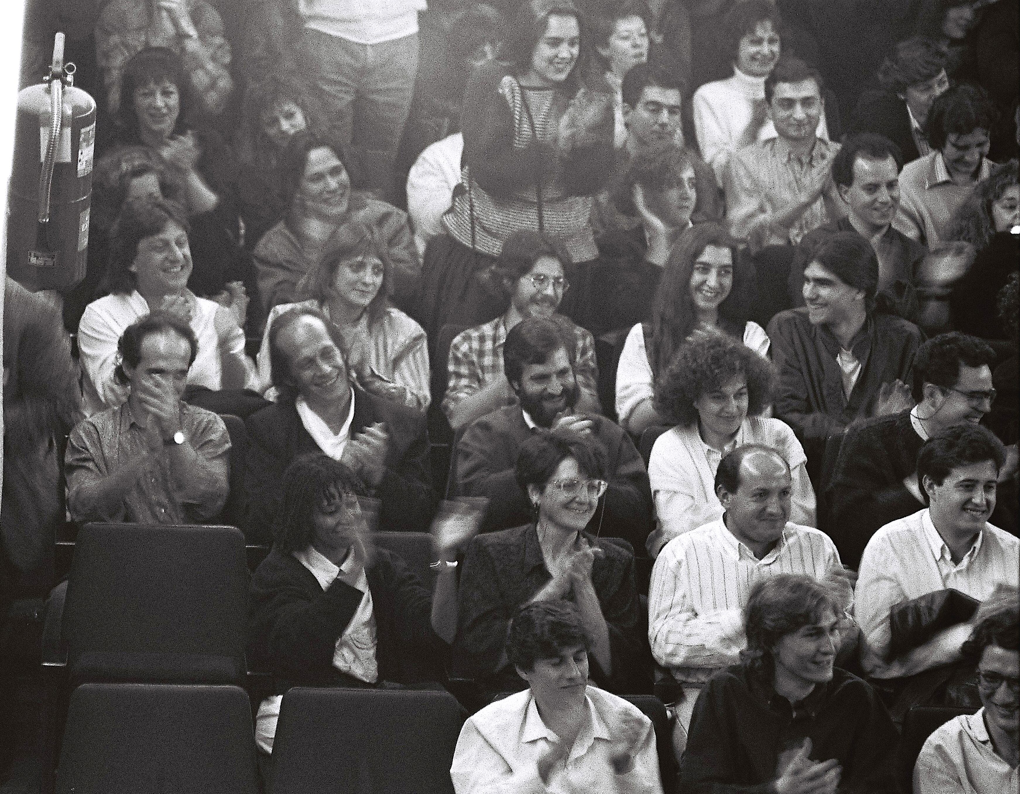
M815 491L806 468L808 459L789 426L779 419L749 416L730 448L746 443L771 446L785 459L792 486L789 520L814 527ZM702 440L697 422L690 427L677 425L656 439L648 464L658 518L647 543L653 557L677 535L722 516L715 495L715 472L721 460L722 454Z

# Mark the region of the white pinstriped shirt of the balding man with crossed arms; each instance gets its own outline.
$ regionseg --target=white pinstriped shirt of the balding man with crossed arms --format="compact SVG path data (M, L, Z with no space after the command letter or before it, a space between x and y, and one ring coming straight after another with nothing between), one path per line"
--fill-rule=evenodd
M839 567L839 552L827 535L793 522L786 522L779 542L761 560L721 518L673 538L652 569L652 655L678 681L704 683L740 661L747 644L744 607L756 582L779 574L820 580Z

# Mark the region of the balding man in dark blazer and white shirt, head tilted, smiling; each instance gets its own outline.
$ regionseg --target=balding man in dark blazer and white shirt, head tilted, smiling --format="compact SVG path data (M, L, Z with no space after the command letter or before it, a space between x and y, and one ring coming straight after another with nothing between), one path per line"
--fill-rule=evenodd
M280 396L246 422L250 540L272 536L284 471L305 453L325 453L361 478L380 501L380 529L422 531L432 518L424 417L353 383L335 327L308 306L269 326L269 366Z

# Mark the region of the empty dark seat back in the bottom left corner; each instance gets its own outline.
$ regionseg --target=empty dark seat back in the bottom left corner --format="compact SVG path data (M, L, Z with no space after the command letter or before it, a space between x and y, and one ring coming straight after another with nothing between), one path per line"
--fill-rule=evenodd
M83 684L70 697L60 794L258 794L248 695L235 686Z

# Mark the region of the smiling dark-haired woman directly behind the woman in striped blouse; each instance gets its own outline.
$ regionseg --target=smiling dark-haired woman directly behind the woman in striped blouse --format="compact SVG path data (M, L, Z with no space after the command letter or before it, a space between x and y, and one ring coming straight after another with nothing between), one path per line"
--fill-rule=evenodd
M265 232L254 252L265 310L298 300L298 282L321 259L326 241L352 222L376 229L394 265L396 303L406 307L421 275L406 213L352 190L343 150L310 133L295 135L288 143L279 178L287 214Z

